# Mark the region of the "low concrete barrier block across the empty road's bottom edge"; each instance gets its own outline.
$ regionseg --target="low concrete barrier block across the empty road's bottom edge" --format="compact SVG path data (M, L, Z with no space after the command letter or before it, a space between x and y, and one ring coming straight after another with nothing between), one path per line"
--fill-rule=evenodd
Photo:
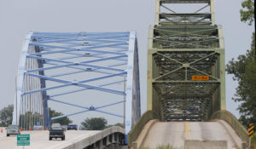
M185 140L185 149L227 149L227 140Z

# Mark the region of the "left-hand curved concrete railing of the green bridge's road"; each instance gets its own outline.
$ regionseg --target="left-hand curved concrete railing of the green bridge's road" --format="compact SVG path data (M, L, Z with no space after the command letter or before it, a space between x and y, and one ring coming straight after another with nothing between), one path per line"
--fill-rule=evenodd
M159 119L158 115L153 111L144 112L143 116L132 127L128 134L128 146L132 146L132 142L137 140L137 136L141 133L144 125L151 119Z

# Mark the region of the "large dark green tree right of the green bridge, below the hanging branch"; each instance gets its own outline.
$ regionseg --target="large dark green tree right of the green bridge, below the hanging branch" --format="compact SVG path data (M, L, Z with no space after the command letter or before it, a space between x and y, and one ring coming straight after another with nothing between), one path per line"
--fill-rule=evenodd
M245 126L248 123L256 123L256 60L253 59L255 33L252 38L251 50L247 50L247 54L239 55L237 60L230 60L226 66L228 74L233 74L233 79L238 81L236 95L232 100L240 102L239 120Z

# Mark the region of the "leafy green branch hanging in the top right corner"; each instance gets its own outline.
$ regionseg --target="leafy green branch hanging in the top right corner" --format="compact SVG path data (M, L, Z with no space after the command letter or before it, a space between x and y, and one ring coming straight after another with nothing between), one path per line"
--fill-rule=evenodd
M245 0L241 3L242 9L240 10L241 21L247 22L251 26L254 21L254 0Z

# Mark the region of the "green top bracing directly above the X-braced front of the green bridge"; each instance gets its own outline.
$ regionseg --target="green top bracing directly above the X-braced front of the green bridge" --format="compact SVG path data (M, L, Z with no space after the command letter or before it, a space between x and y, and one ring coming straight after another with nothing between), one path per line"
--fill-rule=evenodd
M218 48L217 26L155 26L154 48L212 49Z

